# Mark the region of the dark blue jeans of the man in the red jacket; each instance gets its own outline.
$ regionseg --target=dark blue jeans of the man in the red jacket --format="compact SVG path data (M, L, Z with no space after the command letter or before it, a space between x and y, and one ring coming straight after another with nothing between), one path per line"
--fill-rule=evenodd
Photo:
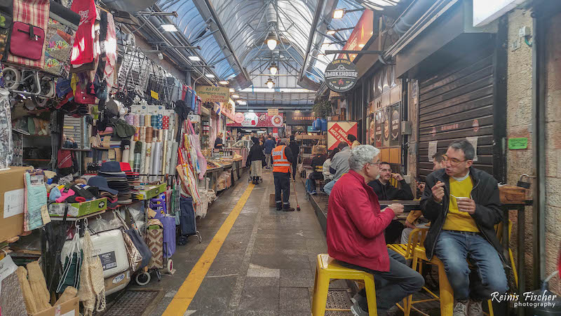
M405 265L405 258L402 255L391 249L388 249L388 254L390 257L390 270L388 272L371 270L339 261L342 266L362 270L374 275L378 315L386 315L389 308L396 305L403 298L416 293L425 284L424 278L417 271ZM358 299L360 309L367 311L368 304L365 289L360 290L358 294L360 294Z

